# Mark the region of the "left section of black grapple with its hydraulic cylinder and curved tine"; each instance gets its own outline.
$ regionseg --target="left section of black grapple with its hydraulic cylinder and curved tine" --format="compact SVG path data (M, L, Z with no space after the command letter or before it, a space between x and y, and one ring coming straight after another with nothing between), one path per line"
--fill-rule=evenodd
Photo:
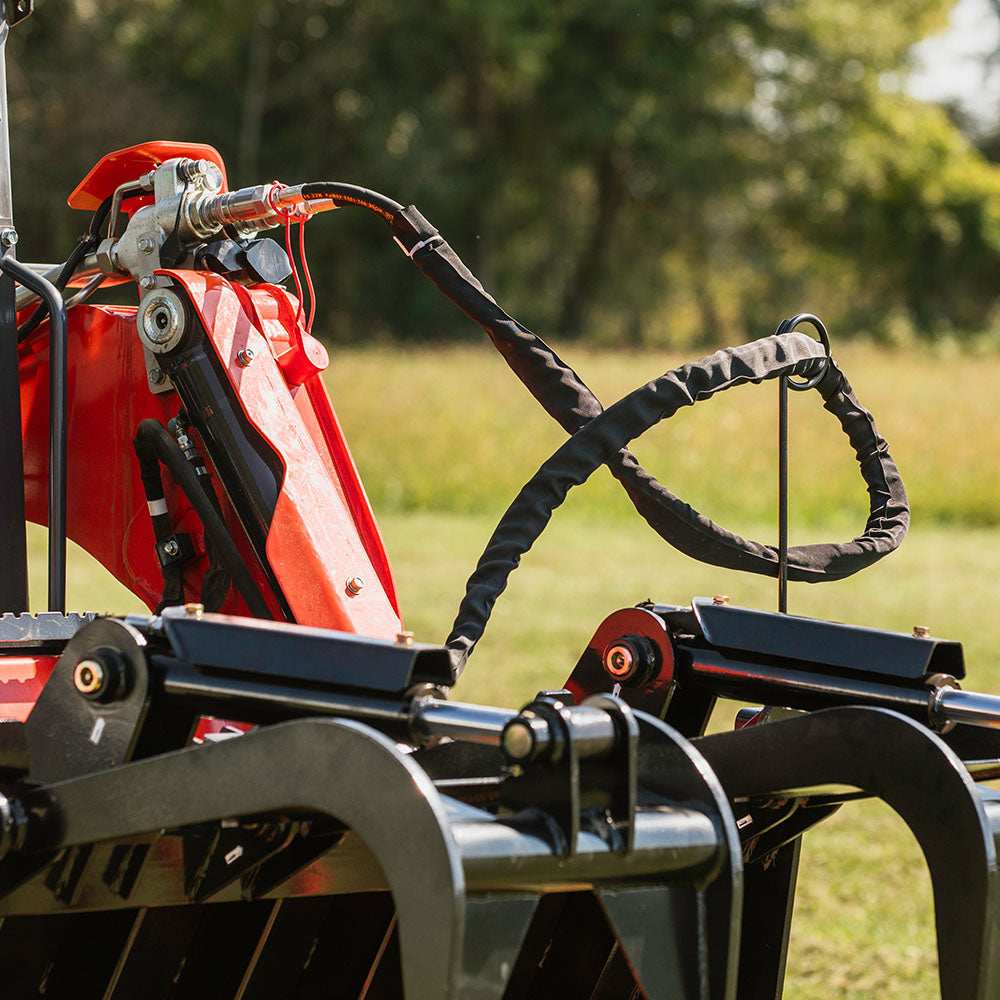
M11 995L732 995L701 754L609 696L449 703L449 666L183 612L81 629L0 725ZM205 705L258 724L186 746Z

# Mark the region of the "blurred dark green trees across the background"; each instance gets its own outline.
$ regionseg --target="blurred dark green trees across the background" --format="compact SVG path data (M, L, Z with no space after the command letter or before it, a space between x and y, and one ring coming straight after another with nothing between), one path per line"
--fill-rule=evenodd
M100 155L174 135L234 184L418 204L529 324L605 342L992 321L1000 179L904 96L948 0L38 0L10 40L19 228ZM373 219L309 227L321 331L464 329Z

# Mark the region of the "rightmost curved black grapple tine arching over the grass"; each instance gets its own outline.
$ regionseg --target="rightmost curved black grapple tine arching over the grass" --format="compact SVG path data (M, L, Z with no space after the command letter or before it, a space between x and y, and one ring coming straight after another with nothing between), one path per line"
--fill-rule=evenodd
M991 822L979 789L934 733L876 708L831 708L697 741L733 797L847 785L878 796L913 831L934 889L943 1000L985 1000L1000 991L1000 873ZM761 888L758 880L750 888ZM744 926L763 923L773 903L747 895ZM747 934L743 968L754 969ZM768 990L771 990L768 993ZM773 980L758 992L774 996Z

